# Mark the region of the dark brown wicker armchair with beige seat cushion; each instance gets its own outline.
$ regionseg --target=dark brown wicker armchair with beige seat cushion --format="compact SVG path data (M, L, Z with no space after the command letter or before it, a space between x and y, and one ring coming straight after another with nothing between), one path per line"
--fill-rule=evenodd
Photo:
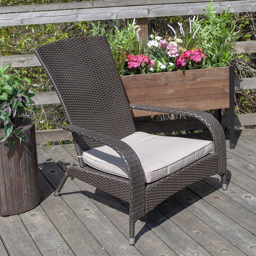
M66 171L55 195L60 194L68 176L73 176L129 202L129 243L133 245L136 220L175 192L216 173L222 174L222 189L227 188L225 136L219 122L210 114L199 110L137 103L129 105L106 37L64 39L37 47L34 52L50 77L68 117L69 125L65 125L63 129L72 132L80 164L79 167L70 167ZM209 143L212 142L204 140L191 142L191 139L172 142L173 137L136 132L131 108L192 116L201 120L212 134L214 151L209 153L208 150L203 155L190 159L185 166L183 163L172 168L172 164L177 162L175 157L179 158L179 154L182 155L185 148L191 146L187 147L187 143L196 145L195 141L202 141L209 149L211 146ZM146 142L147 139L150 140L144 147L146 156L142 137L145 137ZM158 139L164 139L163 148L157 144ZM154 144L155 140L158 146ZM139 145L133 148L136 141ZM160 154L157 152L157 147L161 151ZM144 154L143 160L140 159L140 154ZM165 157L167 160L169 156L174 158L170 160L172 162L170 167L166 167L164 163L162 169L156 166L157 170L147 172L146 169L151 168L156 162L161 165L162 160L155 161L153 156L161 159L163 154L168 155ZM114 166L111 159L108 163L108 159L105 158L103 165L100 163L100 166L94 166L94 163L101 161L100 156L112 157L114 162L117 161L117 166ZM88 161L90 158L93 159L88 163L85 158L89 159ZM155 162L151 163L152 159ZM108 166L104 167L104 164ZM120 173L117 173L116 169L112 172L113 166L114 169L120 167ZM169 169L166 171L166 168ZM154 171L157 171L156 175Z

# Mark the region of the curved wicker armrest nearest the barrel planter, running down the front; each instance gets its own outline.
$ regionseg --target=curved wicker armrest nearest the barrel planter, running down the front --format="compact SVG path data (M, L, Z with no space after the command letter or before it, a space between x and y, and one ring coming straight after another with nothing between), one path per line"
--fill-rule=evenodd
M78 135L87 137L92 140L96 140L104 145L113 148L123 159L124 164L127 168L128 177L130 180L130 204L137 205L145 204L145 178L144 170L141 166L140 159L134 150L122 140L118 140L108 135L94 132L91 130L84 129L76 125L65 125L62 127L65 130L74 132ZM136 216L133 216L134 220L143 216L144 208L137 209Z

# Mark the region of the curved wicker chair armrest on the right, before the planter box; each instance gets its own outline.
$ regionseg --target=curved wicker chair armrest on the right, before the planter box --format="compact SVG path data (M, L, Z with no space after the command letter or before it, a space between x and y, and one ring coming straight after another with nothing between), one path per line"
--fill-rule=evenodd
M204 123L212 134L215 152L218 154L218 172L224 173L227 169L226 140L223 128L218 120L207 112L190 108L170 108L132 103L130 108L160 112L166 114L178 114L192 116Z

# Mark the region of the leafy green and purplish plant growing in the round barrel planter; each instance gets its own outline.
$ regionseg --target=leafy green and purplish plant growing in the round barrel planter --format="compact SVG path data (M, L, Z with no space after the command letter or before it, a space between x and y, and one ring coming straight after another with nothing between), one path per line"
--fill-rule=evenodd
M31 84L27 77L20 77L17 70L10 69L11 64L4 67L0 66L0 125L4 126L5 137L1 140L4 141L10 136L12 137L10 147L14 143L14 136L18 137L21 141L27 139L25 135L21 134L21 131L14 130L14 117L24 116L24 119L30 113L35 113L38 105L34 108L28 108L28 105L36 103L31 99L35 96L34 92L29 91L29 87L38 87L37 84ZM25 86L23 83L27 83Z

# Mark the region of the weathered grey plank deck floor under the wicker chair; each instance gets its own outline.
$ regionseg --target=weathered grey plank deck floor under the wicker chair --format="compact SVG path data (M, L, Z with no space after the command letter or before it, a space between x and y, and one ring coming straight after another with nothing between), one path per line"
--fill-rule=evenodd
M0 256L256 255L256 129L236 131L236 141L227 146L228 190L217 175L184 188L136 222L135 246L126 203L76 179L53 196L78 164L74 145L38 147L41 203L0 217Z

